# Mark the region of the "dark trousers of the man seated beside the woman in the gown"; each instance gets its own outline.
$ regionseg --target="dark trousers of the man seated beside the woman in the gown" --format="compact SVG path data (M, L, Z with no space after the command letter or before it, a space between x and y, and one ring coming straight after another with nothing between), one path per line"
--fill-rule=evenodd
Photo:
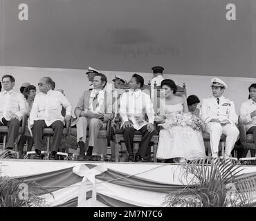
M127 148L127 151L129 155L134 155L134 132L137 131L133 127L127 127L124 129L124 139L125 139L125 146ZM142 133L143 137L140 141L140 146L138 148L138 155L142 155L145 157L147 150L150 148L149 144L153 137L153 132L149 133L147 131L147 125L140 128L140 133Z

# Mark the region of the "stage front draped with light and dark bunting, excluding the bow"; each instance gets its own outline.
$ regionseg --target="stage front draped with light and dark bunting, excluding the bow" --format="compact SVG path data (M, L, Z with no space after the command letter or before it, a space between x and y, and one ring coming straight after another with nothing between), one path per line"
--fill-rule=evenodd
M54 198L42 196L48 206L77 206L84 172L77 175L73 168L81 165L85 165L87 175L96 166L104 168L96 174L97 200L91 200L91 206L164 206L168 193L183 189L191 181L190 177L181 180L181 164L11 159L0 164L1 176L35 181L51 191ZM256 166L241 168L241 174L256 173Z

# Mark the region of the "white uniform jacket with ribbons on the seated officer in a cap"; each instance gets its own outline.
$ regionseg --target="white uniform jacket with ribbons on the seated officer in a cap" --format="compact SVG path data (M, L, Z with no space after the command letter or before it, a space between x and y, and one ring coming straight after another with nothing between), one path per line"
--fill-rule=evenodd
M208 122L214 118L217 118L220 121L227 119L232 125L237 124L238 121L234 102L223 96L219 97L219 104L215 97L203 99L201 105L201 117L205 124L208 124Z

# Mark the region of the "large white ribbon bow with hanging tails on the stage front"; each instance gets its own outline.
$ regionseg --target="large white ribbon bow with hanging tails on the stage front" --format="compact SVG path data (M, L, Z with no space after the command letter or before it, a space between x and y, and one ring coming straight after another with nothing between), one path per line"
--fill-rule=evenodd
M83 177L82 184L78 193L78 202L77 207L92 207L96 206L96 185L95 185L95 176L100 173L107 171L107 166L105 163L89 169L88 166L81 164L79 166L73 167L73 173ZM86 193L92 191L91 200L86 200Z

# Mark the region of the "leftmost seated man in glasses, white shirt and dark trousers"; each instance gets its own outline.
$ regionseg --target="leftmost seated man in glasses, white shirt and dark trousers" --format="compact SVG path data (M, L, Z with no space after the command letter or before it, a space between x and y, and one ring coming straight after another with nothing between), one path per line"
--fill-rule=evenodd
M12 75L2 77L3 91L0 93L0 125L8 126L7 149L13 149L19 133L21 119L26 115L24 95L12 90L15 78Z

